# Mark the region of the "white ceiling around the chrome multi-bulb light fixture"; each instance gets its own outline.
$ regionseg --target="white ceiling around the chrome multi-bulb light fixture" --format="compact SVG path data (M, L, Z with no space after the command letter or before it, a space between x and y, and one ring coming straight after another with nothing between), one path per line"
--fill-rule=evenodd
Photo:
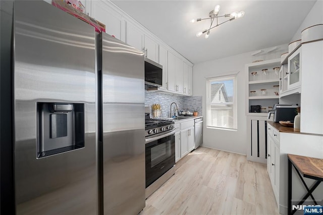
M289 43L315 1L112 1L193 64ZM219 16L244 11L241 19L220 25L204 35L214 6ZM219 18L219 23L227 18Z

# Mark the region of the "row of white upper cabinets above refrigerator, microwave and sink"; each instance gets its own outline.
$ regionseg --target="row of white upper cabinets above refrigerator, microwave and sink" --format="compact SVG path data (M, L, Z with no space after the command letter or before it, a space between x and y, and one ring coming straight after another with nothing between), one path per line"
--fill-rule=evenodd
M193 94L192 63L112 2L86 0L85 6L89 16L105 25L106 33L142 50L145 58L163 66L163 86L160 90L187 96Z

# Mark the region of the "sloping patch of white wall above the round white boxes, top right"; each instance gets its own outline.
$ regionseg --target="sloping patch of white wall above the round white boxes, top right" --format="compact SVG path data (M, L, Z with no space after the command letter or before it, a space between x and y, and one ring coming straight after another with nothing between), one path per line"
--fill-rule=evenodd
M291 42L301 39L301 32L305 28L313 25L323 24L323 1L317 0L311 11L308 13L303 23L299 26Z

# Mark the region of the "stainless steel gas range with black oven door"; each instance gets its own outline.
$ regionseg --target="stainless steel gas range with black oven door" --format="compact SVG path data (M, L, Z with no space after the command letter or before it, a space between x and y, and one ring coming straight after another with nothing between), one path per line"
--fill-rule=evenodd
M146 121L146 198L175 174L174 122L150 122L155 124Z

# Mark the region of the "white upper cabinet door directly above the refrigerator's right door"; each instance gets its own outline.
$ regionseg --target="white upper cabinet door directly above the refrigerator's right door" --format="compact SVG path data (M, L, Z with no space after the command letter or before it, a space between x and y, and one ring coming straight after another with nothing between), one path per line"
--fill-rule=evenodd
M124 33L124 30L122 30L123 21L120 14L109 8L103 1L92 1L91 15L92 18L105 25L105 32L107 34L124 41L122 38L122 32Z

